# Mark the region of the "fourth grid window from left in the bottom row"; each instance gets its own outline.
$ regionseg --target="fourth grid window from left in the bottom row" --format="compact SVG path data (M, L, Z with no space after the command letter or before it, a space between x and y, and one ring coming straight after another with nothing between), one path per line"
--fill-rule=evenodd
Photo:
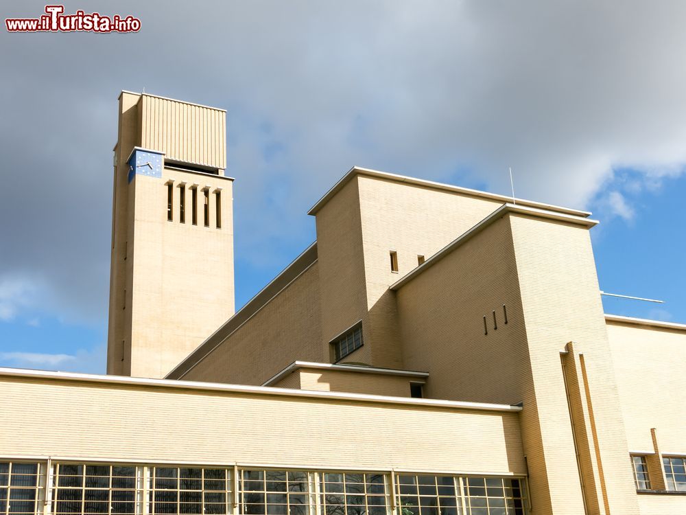
M308 515L307 472L243 470L241 513L245 515Z

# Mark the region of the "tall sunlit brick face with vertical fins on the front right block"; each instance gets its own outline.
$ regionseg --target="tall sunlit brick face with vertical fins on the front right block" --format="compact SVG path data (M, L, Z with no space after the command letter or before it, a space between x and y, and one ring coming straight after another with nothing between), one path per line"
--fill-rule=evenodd
M560 351L573 342L583 354L588 397L593 411L594 456L600 466L602 492L595 492L598 510L621 514L638 512L632 481L626 431L600 301L589 231L560 222L511 216L517 274L532 367L541 439L528 439L525 453L532 491L543 487L545 470L549 506L543 512L581 513L576 453L569 407L560 365ZM591 481L585 481L587 486ZM587 496L593 492L587 489ZM590 507L593 507L591 503Z

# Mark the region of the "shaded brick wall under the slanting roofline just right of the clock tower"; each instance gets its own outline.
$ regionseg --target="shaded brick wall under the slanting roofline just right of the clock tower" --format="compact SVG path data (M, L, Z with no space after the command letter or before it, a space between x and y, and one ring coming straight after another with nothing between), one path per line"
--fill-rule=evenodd
M315 262L183 376L261 385L296 361L329 361L322 343L320 266Z

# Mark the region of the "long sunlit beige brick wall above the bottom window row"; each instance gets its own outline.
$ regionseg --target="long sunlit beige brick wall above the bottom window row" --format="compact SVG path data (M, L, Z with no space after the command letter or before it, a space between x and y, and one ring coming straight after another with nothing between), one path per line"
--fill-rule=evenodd
M517 413L7 376L0 409L0 455L525 473Z

